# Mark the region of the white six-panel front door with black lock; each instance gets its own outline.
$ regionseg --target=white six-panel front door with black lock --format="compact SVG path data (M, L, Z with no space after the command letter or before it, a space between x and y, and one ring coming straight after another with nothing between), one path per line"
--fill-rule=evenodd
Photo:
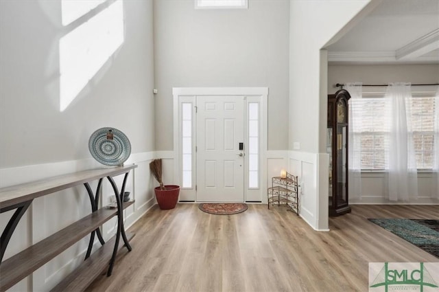
M243 202L244 97L200 96L196 104L197 201Z

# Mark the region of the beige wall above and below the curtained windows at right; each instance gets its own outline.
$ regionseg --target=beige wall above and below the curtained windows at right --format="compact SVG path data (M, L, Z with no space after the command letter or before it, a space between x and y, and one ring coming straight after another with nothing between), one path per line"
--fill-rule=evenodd
M389 82L412 82L429 84L439 82L439 66L434 65L329 65L328 93L335 93L337 83L363 82L364 84L387 84ZM385 92L385 87L363 87L364 92ZM412 87L412 91L436 91L436 87ZM363 172L361 175L361 198L350 195L350 203L394 203L386 199L387 177L384 172ZM418 174L418 200L409 203L439 203L431 199L434 194L434 177L431 173Z

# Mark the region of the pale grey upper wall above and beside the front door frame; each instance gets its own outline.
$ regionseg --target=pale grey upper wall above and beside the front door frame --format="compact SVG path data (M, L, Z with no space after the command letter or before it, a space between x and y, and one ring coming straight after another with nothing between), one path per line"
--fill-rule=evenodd
M154 1L156 148L173 150L172 87L268 87L268 149L287 148L289 3L195 10L193 0Z

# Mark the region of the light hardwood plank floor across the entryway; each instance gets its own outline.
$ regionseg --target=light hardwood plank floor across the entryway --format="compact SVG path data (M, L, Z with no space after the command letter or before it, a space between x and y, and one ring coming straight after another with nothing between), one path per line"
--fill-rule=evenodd
M438 205L353 205L316 232L285 207L219 216L178 204L135 223L132 251L87 291L368 291L368 262L439 258L367 218L439 219Z

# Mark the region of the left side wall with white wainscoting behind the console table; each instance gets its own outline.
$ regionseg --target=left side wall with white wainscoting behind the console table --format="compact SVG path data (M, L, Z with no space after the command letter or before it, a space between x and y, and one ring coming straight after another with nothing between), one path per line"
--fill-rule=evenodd
M155 155L152 10L152 1L123 1L123 44L61 112L59 42L78 23L62 26L61 1L0 1L0 188L102 167L88 152L88 137L112 126L130 139L126 163L139 165L128 181L136 203L125 211L126 226L155 203L148 166ZM120 188L121 177L117 183ZM104 205L111 194L105 183ZM83 186L35 199L5 258L90 212ZM2 230L11 215L0 214ZM105 238L114 226L115 219L104 225ZM49 291L83 260L86 245L88 236L10 291Z

